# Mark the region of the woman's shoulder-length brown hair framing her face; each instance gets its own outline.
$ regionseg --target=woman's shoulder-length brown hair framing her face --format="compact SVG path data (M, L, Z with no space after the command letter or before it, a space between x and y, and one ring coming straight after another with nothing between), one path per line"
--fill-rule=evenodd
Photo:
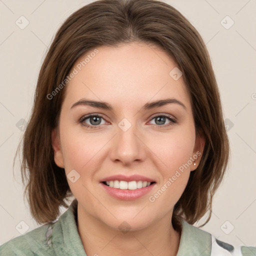
M28 181L24 195L37 223L55 220L59 206L68 207L64 200L72 195L65 172L54 162L51 145L51 131L58 126L65 87L51 99L47 95L64 81L85 52L129 42L157 45L176 61L190 95L196 133L205 138L200 163L190 172L187 186L174 205L173 227L179 216L193 224L210 210L205 223L210 219L212 196L226 169L229 144L217 83L201 36L167 3L98 0L64 21L40 68L32 113L22 138L21 163L22 182Z

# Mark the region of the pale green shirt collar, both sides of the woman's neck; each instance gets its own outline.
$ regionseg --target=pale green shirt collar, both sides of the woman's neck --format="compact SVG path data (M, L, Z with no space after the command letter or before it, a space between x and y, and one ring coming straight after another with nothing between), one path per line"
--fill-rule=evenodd
M76 226L77 200L53 224L52 247L56 255L86 256ZM182 230L176 256L210 256L211 234L187 223L181 218Z

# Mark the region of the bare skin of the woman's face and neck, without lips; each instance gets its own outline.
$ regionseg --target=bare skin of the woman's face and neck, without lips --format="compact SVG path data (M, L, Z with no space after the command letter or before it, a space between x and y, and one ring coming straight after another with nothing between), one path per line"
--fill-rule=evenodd
M154 202L148 197L189 157L203 150L204 139L195 134L182 76L174 80L169 75L177 64L155 45L132 42L97 49L99 52L66 85L59 126L52 131L55 163L66 175L72 169L80 175L75 182L67 181L78 200L78 232L85 252L88 256L176 255L180 234L171 224L173 206L200 157ZM84 97L108 102L113 110L86 105L70 108ZM141 110L149 101L168 97L181 101L186 109L171 103ZM90 113L102 116L95 129L78 122ZM171 122L167 118L157 121L155 117L162 113L174 116L176 123L167 126ZM126 131L118 126L123 118L131 124ZM94 124L90 118L84 123ZM116 199L100 187L99 180L119 173L144 175L156 185L138 199ZM130 226L126 233L118 228L123 221Z

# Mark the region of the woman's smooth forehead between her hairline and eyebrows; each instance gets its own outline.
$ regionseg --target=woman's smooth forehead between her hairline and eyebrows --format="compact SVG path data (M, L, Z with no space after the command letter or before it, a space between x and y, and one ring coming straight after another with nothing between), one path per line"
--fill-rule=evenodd
M177 64L165 51L146 43L100 46L73 65L75 75L66 86L70 106L82 97L121 105L174 97L189 107L182 76L173 79ZM178 73L179 75L179 73Z

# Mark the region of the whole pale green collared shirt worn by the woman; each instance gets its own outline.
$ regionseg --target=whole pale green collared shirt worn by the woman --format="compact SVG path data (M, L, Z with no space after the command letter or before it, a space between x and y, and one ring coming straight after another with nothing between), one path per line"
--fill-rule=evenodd
M57 221L41 225L0 246L0 256L86 256L76 225L76 200ZM97 254L96 254L97 255ZM256 246L232 246L182 218L177 256L252 256Z

